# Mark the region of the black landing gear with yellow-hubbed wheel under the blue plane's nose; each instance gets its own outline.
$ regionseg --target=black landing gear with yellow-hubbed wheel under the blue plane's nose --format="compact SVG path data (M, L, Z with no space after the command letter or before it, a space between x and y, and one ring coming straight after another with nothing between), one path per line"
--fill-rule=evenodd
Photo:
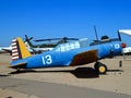
M107 72L107 66L100 62L96 62L94 65L94 69L99 73L99 74L106 74Z

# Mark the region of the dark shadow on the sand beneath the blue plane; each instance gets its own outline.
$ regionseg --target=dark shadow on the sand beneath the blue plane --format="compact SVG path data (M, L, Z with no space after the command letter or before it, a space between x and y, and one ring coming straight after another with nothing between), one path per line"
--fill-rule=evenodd
M76 68L75 70L48 70L48 71L36 71L36 70L21 70L11 72L9 74L22 74L22 73L71 73L78 78L97 78L99 73L92 68ZM108 70L107 72L123 72L122 70ZM106 75L106 74L105 74Z

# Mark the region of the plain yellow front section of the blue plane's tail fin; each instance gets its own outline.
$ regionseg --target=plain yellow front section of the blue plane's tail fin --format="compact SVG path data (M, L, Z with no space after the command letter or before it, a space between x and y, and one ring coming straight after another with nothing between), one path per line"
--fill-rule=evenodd
M31 57L31 52L27 50L27 48L26 48L25 44L23 42L23 40L20 37L17 37L16 39L17 39L17 42L19 42L22 59Z

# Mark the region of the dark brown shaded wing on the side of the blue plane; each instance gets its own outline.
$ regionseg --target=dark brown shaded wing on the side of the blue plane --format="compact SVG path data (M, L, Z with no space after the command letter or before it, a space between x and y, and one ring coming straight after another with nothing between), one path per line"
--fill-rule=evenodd
M73 65L87 64L97 60L98 60L97 50L90 50L75 54L70 65L73 66Z

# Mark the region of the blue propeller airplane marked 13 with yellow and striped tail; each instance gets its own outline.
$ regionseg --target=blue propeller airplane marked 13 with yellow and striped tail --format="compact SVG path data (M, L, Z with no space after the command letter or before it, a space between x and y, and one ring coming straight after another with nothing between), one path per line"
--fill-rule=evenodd
M118 33L119 35L119 33ZM96 62L94 68L100 74L107 66L98 60L122 52L121 38L103 39L87 44L87 39L60 44L50 51L32 56L20 37L12 40L12 62L10 68L37 69L53 66L75 66Z

